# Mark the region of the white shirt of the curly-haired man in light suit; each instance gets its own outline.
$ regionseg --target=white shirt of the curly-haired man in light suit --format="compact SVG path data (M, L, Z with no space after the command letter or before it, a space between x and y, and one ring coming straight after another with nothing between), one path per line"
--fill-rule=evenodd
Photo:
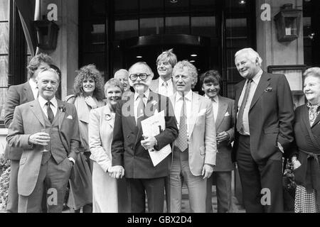
M184 99L186 101L186 118L187 118L187 133L189 132L189 117L192 113L192 91L185 94ZM180 115L182 113L183 99L181 94L176 92L176 103L174 104L174 115L176 115L176 121L178 128L180 128Z

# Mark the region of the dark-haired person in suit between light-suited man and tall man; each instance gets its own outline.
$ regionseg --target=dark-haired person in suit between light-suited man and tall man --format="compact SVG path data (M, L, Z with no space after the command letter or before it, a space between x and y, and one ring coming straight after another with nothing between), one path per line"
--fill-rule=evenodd
M218 153L215 172L207 181L206 212L212 213L211 192L213 177L215 179L218 213L233 212L233 193L231 189L231 172L234 165L231 160L234 129L234 102L219 95L222 79L218 71L209 70L201 75L202 90L205 97L212 101L215 131L217 133Z

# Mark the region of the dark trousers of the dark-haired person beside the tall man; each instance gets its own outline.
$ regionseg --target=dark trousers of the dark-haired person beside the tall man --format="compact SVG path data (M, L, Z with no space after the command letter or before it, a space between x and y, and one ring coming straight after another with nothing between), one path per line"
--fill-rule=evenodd
M233 193L231 189L231 171L213 172L207 180L206 213L212 213L212 183L215 180L218 213L233 213Z

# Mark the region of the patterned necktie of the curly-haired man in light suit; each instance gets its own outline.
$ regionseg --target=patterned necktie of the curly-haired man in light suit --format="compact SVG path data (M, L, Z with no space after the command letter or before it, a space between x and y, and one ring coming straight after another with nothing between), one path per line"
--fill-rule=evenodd
M182 96L183 104L180 115L180 123L179 123L179 133L178 138L176 140L177 147L181 150L181 152L185 151L188 148L188 135L187 135L187 121L186 121L186 100L184 96Z

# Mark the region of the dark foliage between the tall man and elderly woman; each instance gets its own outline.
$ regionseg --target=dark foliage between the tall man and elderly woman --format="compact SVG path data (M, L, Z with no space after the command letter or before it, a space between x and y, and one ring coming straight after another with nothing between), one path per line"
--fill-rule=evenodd
M282 190L284 211L294 211L294 197L297 184L294 179L293 165L289 158L284 159L284 170L282 175Z

